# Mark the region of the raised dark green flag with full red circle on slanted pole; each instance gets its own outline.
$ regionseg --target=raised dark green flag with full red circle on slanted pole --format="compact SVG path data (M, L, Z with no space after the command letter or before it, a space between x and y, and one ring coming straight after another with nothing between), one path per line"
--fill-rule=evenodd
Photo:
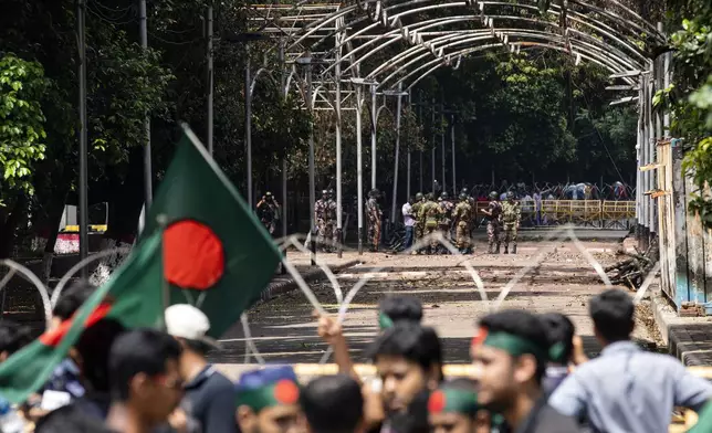
M190 128L182 130L142 236L165 230L170 303L200 308L219 338L268 286L281 254Z

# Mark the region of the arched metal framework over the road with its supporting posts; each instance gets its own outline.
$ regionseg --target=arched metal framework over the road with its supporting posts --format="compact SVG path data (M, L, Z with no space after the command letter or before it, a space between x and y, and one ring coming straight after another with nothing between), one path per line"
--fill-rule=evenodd
M637 149L642 167L652 162L653 141L669 128L667 116L663 120L663 116L652 114L650 101L655 89L669 82L662 66L669 65L670 59L651 59L645 50L645 45L664 44L666 36L660 27L618 0L599 4L561 0L545 13L540 13L537 0L356 0L350 4L307 0L297 6L262 4L253 9L264 14L262 29L285 44L287 63L306 53L321 59L313 109L334 109L337 131L341 112L347 106L363 106L360 87L354 84L357 80L374 83L374 89L383 92L404 86L410 91L439 68L458 68L463 59L488 50L519 54L547 49L567 53L576 63L586 61L604 67L611 80L625 83L616 89L638 91ZM350 89L344 89L343 83L352 83ZM371 94L374 97L376 92ZM630 96L621 101L635 99ZM318 102L322 106L317 108ZM653 178L647 170L638 176L637 190L642 196L638 197L637 214L643 231L649 232L655 232L657 219L655 203L645 191L651 189Z

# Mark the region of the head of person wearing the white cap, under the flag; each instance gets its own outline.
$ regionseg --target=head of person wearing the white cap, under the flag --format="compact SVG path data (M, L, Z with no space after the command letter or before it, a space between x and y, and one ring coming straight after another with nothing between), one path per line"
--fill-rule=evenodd
M218 349L218 341L208 337L210 320L200 309L189 304L175 304L166 308L166 331L178 339L188 357L205 359L208 351ZM186 379L186 378L184 378Z

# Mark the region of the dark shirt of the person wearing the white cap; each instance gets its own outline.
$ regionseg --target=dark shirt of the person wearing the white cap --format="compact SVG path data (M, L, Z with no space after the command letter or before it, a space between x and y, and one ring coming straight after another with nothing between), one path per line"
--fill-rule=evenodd
M234 421L235 390L232 382L213 366L206 367L185 386L181 404L206 433L237 433Z

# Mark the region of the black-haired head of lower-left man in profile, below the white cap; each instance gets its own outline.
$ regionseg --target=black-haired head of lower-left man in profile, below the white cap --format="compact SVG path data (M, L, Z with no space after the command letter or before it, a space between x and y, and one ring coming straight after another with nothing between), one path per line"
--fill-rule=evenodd
M155 329L116 338L108 361L113 402L125 404L146 423L164 422L182 398L180 350L175 338Z

